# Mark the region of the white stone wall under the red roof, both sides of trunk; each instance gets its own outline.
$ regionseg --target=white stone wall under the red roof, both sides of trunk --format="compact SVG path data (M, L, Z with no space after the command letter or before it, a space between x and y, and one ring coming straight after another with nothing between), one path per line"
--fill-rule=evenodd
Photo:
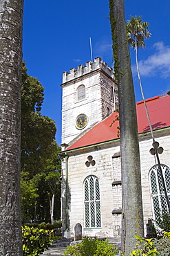
M157 131L156 141L164 148L160 154L160 163L170 167L170 135L168 131ZM150 134L140 135L140 162L142 176L142 201L144 212L144 227L146 235L146 224L149 218L153 218L151 192L149 187L149 170L156 164L155 156L149 153L152 147ZM97 237L120 237L121 214L111 214L112 210L122 207L121 185L112 186L113 181L121 180L120 157L114 154L120 151L118 142L106 146L96 146L95 149L82 149L70 155L69 166L69 188L70 188L70 232L74 237L76 223L81 223L83 236ZM68 153L69 154L69 153ZM91 155L96 165L87 167L85 162ZM89 175L95 175L100 183L100 202L102 228L87 229L84 225L84 203L83 203L83 182ZM64 177L63 177L64 178ZM133 196L133 195L131 195Z

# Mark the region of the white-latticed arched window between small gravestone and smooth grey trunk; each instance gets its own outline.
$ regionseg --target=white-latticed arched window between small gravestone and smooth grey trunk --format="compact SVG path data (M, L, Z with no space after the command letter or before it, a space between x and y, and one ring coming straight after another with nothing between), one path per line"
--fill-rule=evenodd
M85 228L100 228L100 186L96 176L88 176L84 182Z

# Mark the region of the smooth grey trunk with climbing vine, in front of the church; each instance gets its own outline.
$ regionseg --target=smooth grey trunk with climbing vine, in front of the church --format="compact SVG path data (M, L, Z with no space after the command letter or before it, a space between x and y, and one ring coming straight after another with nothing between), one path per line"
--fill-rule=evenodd
M142 190L138 127L131 60L127 44L124 0L109 0L120 113L120 147L123 181L123 253L129 255L143 236Z

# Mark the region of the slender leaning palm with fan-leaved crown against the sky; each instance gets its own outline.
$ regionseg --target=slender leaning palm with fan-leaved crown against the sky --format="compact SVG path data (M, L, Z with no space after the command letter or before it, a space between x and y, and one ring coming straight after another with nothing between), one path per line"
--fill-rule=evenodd
M166 188L165 183L164 183L162 168L161 168L161 165L160 165L160 159L159 159L159 156L158 156L156 141L155 141L155 138L153 136L153 129L152 129L152 126L151 126L149 111L147 109L147 103L145 101L145 95L144 95L143 89L142 89L142 82L141 82L141 79L140 79L140 71L139 71L139 66L138 66L138 48L144 48L145 47L144 40L147 39L148 37L151 37L151 33L149 33L149 29L148 29L149 23L148 22L142 22L142 17L141 16L135 16L135 17L131 16L131 19L128 21L126 27L127 27L127 41L129 43L129 45L131 47L133 47L134 50L136 51L136 68L137 68L138 80L139 80L139 84L140 84L140 91L141 91L141 94L142 94L142 100L144 102L145 111L146 111L146 114L147 114L147 120L149 122L149 128L150 128L150 131L151 131L151 138L153 140L153 147L154 147L155 152L156 152L156 158L157 158L157 161L158 161L160 175L161 175L161 178L162 178L162 185L163 185L163 188L164 188L164 195L165 195L165 198L167 199L167 206L168 206L168 209L169 209L169 212L170 212L170 203L169 203L169 198L168 198L168 194L167 194L167 188Z

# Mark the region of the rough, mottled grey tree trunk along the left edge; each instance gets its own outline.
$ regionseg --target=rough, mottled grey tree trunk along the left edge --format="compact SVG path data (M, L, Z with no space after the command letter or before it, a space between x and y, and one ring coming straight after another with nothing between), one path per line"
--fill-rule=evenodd
M23 0L0 0L0 255L21 256L20 105Z

